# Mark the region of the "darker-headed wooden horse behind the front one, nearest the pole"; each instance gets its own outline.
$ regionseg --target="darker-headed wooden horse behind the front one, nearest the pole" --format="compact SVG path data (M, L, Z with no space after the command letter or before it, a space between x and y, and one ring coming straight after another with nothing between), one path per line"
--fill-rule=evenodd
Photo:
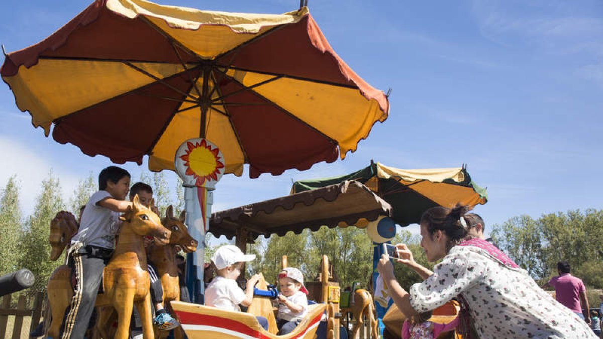
M186 212L182 211L179 218L174 217L174 210L170 205L165 211L165 218L161 220L163 226L172 232L169 237L169 243L166 246L149 247L149 259L157 268L157 276L161 279L163 288L163 306L170 312L172 317L176 318L175 312L171 308L171 302L180 300L180 284L178 280L178 265L175 253L177 247L182 248L186 253L192 253L197 250L198 241L193 239L188 233L185 225ZM155 332L159 336L159 331ZM175 338L183 338L182 328L174 330Z

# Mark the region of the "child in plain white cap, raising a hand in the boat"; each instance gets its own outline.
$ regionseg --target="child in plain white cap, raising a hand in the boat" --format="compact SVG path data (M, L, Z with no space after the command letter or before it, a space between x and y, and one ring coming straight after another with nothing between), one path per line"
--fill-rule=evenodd
M254 274L247 280L247 288L243 291L236 278L241 275L244 262L252 261L256 255L246 255L239 247L226 245L213 253L212 261L216 267L216 277L209 283L205 290L205 305L228 311L241 311L239 304L250 306L253 301L253 287L259 280L259 274ZM268 331L268 320L265 317L256 317L260 325Z

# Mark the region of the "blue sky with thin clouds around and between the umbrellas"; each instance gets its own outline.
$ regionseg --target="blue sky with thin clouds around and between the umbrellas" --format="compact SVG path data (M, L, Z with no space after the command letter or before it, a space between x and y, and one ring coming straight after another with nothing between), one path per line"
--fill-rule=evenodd
M299 4L157 2L251 13L283 13ZM8 52L37 43L87 4L2 0L0 43ZM278 177L224 176L214 211L278 197L291 180L344 174L370 159L398 168L467 163L488 188L490 201L476 208L487 227L516 215L601 208L603 2L309 0L309 8L352 69L374 87L393 89L390 117L343 161ZM110 165L45 138L5 84L0 150L0 185L17 174L26 213L50 168L68 197L79 179ZM139 166L125 168L139 176ZM168 177L175 182L174 173Z

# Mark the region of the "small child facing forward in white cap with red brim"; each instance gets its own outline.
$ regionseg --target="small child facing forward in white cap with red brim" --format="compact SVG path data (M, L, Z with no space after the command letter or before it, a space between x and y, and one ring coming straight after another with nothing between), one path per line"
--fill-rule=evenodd
M303 285L303 274L294 267L283 268L279 273L279 315L276 325L279 335L291 333L308 314L308 290Z

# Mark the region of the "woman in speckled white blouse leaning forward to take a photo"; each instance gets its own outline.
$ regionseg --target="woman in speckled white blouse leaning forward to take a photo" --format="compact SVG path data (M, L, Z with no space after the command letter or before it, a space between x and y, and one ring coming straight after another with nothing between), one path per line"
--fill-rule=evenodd
M417 264L404 244L396 246L396 261L425 279L408 292L396 281L388 256L380 259L377 270L407 318L456 298L464 311L468 308L480 338L597 338L584 320L541 290L492 244L466 240L467 211L467 206L437 207L421 217L421 247L428 261L442 259L434 271Z

